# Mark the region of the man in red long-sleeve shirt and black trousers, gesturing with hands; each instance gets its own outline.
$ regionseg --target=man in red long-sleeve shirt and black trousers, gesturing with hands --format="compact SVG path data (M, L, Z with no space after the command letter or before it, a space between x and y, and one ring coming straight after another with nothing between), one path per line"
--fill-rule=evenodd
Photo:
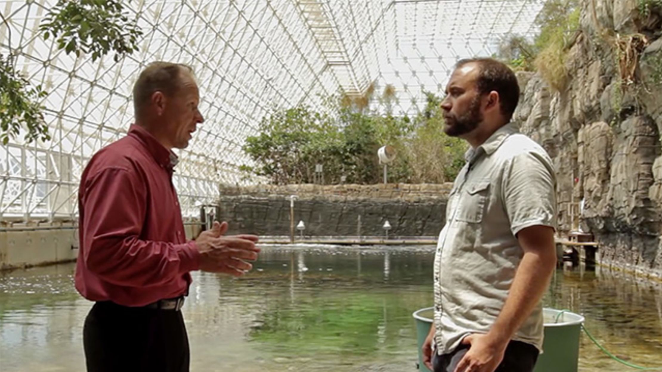
M256 236L223 236L226 222L195 241L184 235L171 149L203 122L191 68L150 64L133 89L136 122L87 164L79 189L75 286L95 301L83 329L88 371L188 371L180 308L189 271L242 275Z

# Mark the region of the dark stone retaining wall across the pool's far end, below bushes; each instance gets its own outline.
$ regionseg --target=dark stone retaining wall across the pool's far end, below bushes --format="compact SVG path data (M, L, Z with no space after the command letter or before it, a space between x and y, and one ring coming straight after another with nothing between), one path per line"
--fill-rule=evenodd
M451 184L258 185L220 190L220 220L230 233L287 236L290 196L305 236L437 236ZM299 232L297 231L297 235Z

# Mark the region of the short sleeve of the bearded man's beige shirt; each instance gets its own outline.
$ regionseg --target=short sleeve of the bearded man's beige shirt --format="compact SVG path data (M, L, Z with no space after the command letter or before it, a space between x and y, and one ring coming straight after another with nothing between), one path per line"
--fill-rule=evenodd
M551 160L538 152L510 159L502 179L503 200L514 236L530 226L556 229L556 177Z

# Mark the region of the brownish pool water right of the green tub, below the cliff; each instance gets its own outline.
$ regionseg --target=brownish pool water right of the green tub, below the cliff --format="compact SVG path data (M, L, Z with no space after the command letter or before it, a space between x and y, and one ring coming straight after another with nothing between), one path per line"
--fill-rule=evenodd
M609 351L662 371L662 283L596 266L559 270L545 302L586 317L585 326ZM629 369L581 338L581 371Z

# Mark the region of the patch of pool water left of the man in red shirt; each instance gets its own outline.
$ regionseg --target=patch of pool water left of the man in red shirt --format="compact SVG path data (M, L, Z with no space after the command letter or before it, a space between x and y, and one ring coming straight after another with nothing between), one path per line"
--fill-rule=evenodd
M44 361L58 359L70 362L49 371L83 369L81 317L88 307L71 290L73 266L67 266L0 277L0 371L41 371Z

